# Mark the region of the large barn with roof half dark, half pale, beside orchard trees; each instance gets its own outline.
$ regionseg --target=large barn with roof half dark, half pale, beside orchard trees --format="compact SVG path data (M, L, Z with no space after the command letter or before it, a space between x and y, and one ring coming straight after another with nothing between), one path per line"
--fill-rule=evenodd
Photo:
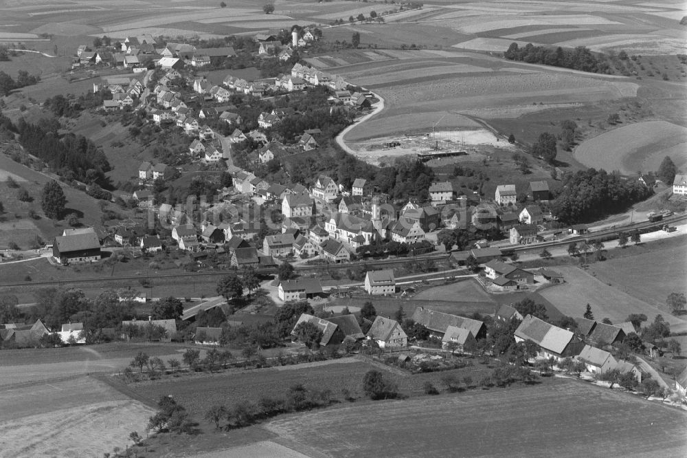
M576 338L572 331L550 325L532 315L526 316L515 329L515 342L532 340L539 346L538 355L542 358L563 358L580 354L584 342Z

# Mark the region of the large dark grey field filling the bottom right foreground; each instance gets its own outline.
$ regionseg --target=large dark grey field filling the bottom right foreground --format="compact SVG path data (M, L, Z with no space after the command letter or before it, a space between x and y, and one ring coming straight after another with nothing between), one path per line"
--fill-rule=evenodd
M332 413L292 415L264 428L293 446L341 457L452 456L457 448L462 456L504 457L593 456L599 450L682 457L687 451L684 412L568 380L353 404Z

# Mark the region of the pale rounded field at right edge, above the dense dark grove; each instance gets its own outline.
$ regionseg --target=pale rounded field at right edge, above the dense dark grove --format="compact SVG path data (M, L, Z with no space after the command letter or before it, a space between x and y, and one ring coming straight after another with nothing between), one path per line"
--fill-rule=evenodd
M670 155L678 168L687 164L687 128L667 121L628 124L586 140L574 157L586 166L626 175L655 171Z

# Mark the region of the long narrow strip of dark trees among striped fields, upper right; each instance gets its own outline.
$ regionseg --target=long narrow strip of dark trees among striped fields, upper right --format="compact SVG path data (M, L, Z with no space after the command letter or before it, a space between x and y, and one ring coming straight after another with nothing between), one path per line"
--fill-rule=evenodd
M574 50L563 50L559 46L554 50L551 47L534 46L532 43L528 43L523 48L518 47L517 43L511 43L504 57L510 61L540 63L580 70L581 72L612 73L605 58L595 56L584 46L578 46Z

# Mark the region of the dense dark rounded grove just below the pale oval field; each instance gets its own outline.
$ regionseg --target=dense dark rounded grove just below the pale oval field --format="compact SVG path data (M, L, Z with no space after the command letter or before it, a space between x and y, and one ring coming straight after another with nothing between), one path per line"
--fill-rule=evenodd
M563 223L595 221L649 197L653 190L617 173L589 168L567 175L551 210Z

